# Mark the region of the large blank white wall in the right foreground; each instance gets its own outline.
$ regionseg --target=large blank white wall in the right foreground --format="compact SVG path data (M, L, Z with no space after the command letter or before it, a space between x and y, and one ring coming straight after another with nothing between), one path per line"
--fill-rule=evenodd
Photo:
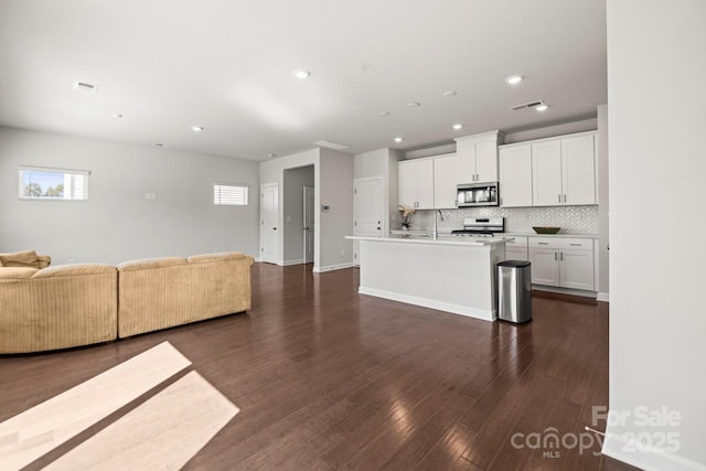
M644 469L706 469L706 2L608 0L610 408L603 452ZM666 218L668 231L657 225ZM693 236L692 236L693 235ZM689 242L685 242L689 240ZM685 248L686 247L686 248ZM685 249L687 251L682 251ZM676 452L635 407L681 415Z

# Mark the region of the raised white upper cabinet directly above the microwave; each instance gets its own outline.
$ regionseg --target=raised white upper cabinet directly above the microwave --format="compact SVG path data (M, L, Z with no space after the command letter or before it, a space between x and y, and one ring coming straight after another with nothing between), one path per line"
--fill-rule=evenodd
M456 139L459 183L498 181L498 143L502 138L502 132L492 131Z

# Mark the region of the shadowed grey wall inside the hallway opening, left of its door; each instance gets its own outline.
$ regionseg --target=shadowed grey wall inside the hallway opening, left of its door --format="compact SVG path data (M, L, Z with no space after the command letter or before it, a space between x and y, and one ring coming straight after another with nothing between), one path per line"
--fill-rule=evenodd
M313 186L313 165L285 170L284 229L285 265L304 261L303 188ZM315 207L315 206L314 206Z

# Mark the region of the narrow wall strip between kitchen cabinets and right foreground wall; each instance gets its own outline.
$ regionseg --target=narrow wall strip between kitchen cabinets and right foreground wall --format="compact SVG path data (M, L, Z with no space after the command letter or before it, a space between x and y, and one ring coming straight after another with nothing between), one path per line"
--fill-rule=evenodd
M608 173L608 105L598 107L598 300L608 301L610 292L609 269L609 173Z

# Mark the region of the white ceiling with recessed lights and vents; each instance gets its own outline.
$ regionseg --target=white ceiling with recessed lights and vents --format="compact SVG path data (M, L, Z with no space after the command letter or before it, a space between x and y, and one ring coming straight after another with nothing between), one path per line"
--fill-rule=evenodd
M253 160L542 127L607 101L605 17L600 0L2 0L0 125ZM509 109L535 99L549 109Z

